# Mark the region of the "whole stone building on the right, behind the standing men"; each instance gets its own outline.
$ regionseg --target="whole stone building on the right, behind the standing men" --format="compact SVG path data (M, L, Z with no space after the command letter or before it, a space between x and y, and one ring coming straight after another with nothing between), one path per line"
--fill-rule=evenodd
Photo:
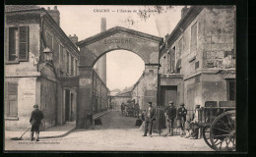
M235 101L235 8L190 7L160 44L159 104Z

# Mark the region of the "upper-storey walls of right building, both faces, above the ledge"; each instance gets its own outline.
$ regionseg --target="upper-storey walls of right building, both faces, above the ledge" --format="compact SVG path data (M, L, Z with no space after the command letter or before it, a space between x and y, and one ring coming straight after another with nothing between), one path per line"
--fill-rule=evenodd
M184 78L202 69L235 68L234 50L234 8L206 7L176 38L165 54L160 57L160 74L166 74L170 67L169 52L175 48L175 65L181 60L180 74ZM191 36L191 27L197 26L197 33ZM180 50L179 41L182 41ZM191 40L197 40L192 50ZM194 48L193 48L194 49Z

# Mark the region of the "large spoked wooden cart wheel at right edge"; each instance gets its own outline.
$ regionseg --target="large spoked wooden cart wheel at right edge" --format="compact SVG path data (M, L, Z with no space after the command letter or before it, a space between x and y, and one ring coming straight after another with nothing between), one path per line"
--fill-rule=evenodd
M235 135L235 111L224 112L211 125L210 139L217 151L234 151Z

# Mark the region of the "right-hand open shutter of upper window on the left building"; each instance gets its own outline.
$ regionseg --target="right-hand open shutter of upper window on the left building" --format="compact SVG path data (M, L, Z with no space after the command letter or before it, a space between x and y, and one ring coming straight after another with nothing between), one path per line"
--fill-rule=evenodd
M28 61L29 26L19 26L19 60Z

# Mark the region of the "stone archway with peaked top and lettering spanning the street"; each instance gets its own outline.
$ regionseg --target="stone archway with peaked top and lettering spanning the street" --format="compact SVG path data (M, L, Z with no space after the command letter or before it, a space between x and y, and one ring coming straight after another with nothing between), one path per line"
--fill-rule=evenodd
M140 31L113 27L78 42L80 47L79 93L77 128L85 128L86 116L93 97L93 67L105 53L113 50L128 50L136 53L145 62L145 100L157 105L159 46L161 38Z

